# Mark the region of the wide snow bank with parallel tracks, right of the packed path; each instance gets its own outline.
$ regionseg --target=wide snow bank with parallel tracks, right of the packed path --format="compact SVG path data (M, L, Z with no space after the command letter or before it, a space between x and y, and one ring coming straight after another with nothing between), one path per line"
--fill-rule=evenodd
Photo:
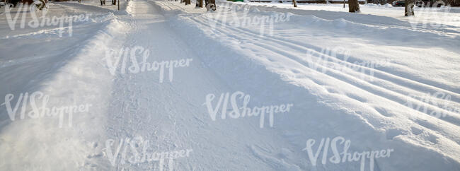
M160 1L157 4L171 6L173 3ZM260 97L254 101L251 99L253 105L294 101L293 112L287 116L275 117L276 129L272 131L276 131L285 139L272 144L270 149L252 147L254 155L268 165L285 170L308 170L318 169L318 167L327 167L328 170L344 168L359 170L360 163L326 164L315 167L312 166L313 163L305 162L309 161L305 151L297 151L305 148L305 141L310 138L316 139L318 143L321 138L343 136L351 140L352 151L394 149L391 157L376 159L374 163L374 169L378 168L376 170L437 170L439 168L455 170L460 167L458 113L446 111L449 117L437 118L411 109L406 101L408 95L422 96L424 92L440 91L455 97L452 107L459 106L460 96L456 93L459 92L459 87L456 86L457 80L455 78L449 80L442 76L444 73L439 73L437 67L415 63L417 60L414 58L421 55L421 51L433 54L419 48L427 45L425 42L419 42L421 40L416 40L419 36L432 39L430 45L438 41L455 44L459 42L458 37L373 25L380 20L373 23L366 22L375 20L379 16L361 14L346 16L346 18L355 18L353 21L345 18L334 20L321 18L326 11L319 13L319 18L315 14L293 15L286 23L275 24L273 35L260 35L260 25L234 27L230 23L224 23L223 20L231 22L236 17L244 19L244 14L240 12L241 10L238 11L238 8L241 9L245 5L236 4L239 6L236 13L231 13L231 10L222 6L224 5L220 4L219 9L224 13L190 16L189 13L178 15L176 11L175 17L169 18L171 27L177 28L178 33L181 33L195 49L206 46L206 50L198 51L202 61L224 80L229 81L236 90L244 90ZM168 8L163 10L168 13ZM283 9L273 11L288 12ZM275 14L273 11L272 8L268 10L265 7L251 6L248 13L251 13L251 17L260 18ZM294 13L302 12L294 11ZM226 19L216 20L219 14L226 16ZM216 21L218 24L213 25ZM221 26L221 23L224 23L224 26ZM265 26L269 27L269 25ZM188 32L184 33L180 30L188 30ZM344 35L346 38L343 37ZM411 53L418 51L418 53L411 55L410 58L404 57L408 56L407 49L403 50L393 45L394 42L400 42L400 38L401 40L410 38L411 42L415 39L413 42L417 43L410 46L409 51ZM378 49L374 47L375 44L379 45ZM323 47L333 48L338 45L343 49L357 49L352 50L350 54L349 59L352 59L352 62L373 60L391 62L380 68L363 68L363 71L375 72L372 76L373 81L363 79L367 77L360 76L359 72L331 68L337 64L350 62L344 61L343 54L332 56L327 53L326 55L331 55L333 59L321 66L309 63L309 53L321 58L325 55L321 50ZM455 58L458 57L455 47L436 45L444 48L445 51L437 49L435 53L442 54L430 57L435 58L433 60L437 62L442 62L442 67L449 68L447 69L449 72L458 69L458 66L448 64L459 63L459 59ZM390 48L388 52L386 48ZM404 55L394 53L395 50L402 50ZM423 59L427 60L425 55L423 56ZM418 74L419 71L409 69L410 64L418 65L415 69L420 67L419 71L426 73L428 70L431 74L440 75L434 76L435 78L432 76L422 78L423 76ZM326 69L326 72L321 69ZM442 81L432 80L437 78L441 78ZM415 104L420 101L409 100L409 102ZM332 155L332 152L328 151L328 154ZM426 160L430 162L427 163ZM366 167L369 167L368 163Z

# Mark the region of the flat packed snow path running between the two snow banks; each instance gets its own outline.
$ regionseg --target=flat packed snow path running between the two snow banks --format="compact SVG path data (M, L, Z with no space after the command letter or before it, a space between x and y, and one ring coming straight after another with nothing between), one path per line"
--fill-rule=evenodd
M130 1L127 11L132 15L127 21L133 30L126 35L127 40L122 47L140 46L149 50L147 62L150 64L184 59L190 61L190 66L174 68L171 81L171 70L166 68L163 81L159 78L160 71L115 76L108 110L109 137L118 140L140 136L149 140L159 152L192 149L189 158L174 163L176 166L173 168L178 170L224 170L242 166L250 170L263 168L260 167L261 161L259 165L254 165L256 158L246 144L262 143L263 139L252 139L250 135L264 130L259 130L257 125L247 127L245 122L206 122L209 115L202 105L205 96L230 92L229 86L222 84L219 77L202 66L200 58L172 32L165 18L149 2ZM269 132L265 133L266 138L272 138L269 135ZM198 148L201 150L197 151ZM246 160L222 162L229 160L229 156L220 154L235 151L243 152L238 153L238 157ZM159 169L159 164L143 163L130 167L152 170Z

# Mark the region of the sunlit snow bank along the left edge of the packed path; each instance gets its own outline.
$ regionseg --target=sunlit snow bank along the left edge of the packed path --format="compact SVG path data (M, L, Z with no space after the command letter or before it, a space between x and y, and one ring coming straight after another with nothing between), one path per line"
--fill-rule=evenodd
M33 86L22 89L14 87L16 89L8 92L6 88L1 90L3 97L7 97L6 94L13 95L11 104L4 103L2 108L6 105L19 106L16 115L8 110L1 110L2 117L13 116L1 120L0 148L4 151L0 153L1 170L87 170L95 167L89 165L87 160L97 160L102 154L88 151L98 148L100 151L102 148L98 140L105 138L105 129L100 127L105 123L105 115L100 113L106 110L112 77L107 69L100 67L100 62L105 55L105 48L121 43L114 38L122 37L127 31L127 25L116 18L111 15L96 19L95 22L99 24L89 25L93 27L90 29L86 28L94 30L89 37L81 35L77 27L74 36L83 38L79 40L81 42L71 49L58 50L60 53L55 56L12 59L1 65L4 71L17 67L16 70L8 71L21 72L33 69L41 73L38 76L15 74L15 81L33 83ZM40 34L41 37L37 37L36 34L15 35L8 40L14 42L15 39L19 41L30 37L43 39L52 33L46 31ZM40 43L35 46L42 47ZM27 53L33 54L31 51ZM8 54L12 57L18 55L9 52ZM27 62L23 64L25 61ZM37 64L41 65L30 67L27 65L30 61L37 61ZM25 93L30 96L24 98L21 103L19 97ZM35 105L44 105L49 111L40 112L40 117L34 117ZM86 108L80 111L78 107L82 105ZM54 109L64 110L63 107L64 112L52 114ZM25 117L20 117L21 111L25 112Z

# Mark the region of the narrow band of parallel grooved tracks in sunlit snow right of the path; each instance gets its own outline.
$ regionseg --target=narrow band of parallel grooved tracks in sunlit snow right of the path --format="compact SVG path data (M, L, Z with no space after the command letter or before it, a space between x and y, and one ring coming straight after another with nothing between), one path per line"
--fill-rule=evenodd
M199 21L196 18L190 18L190 19L194 20L195 22L197 22L197 23L199 23L201 25L205 25L206 27L211 28L211 25L205 24L205 21ZM209 19L209 18L207 18L207 19ZM203 19L203 20L205 20L205 19ZM329 65L326 65L326 66L324 66L323 64L318 64L319 67L327 68L327 71L332 72L332 73L321 73L321 69L311 69L311 67L309 67L309 64L308 64L307 61L297 57L295 54L292 54L291 52L289 52L289 50L284 50L284 49L292 49L292 47L297 47L297 49L304 49L304 51L306 52L307 50L309 50L308 48L299 47L299 45L294 45L294 44L292 44L290 42L277 40L275 38L261 37L260 35L257 35L257 34L247 33L246 32L247 30L239 30L239 29L236 29L236 28L231 28L231 26L229 26L229 25L226 25L225 28L228 29L228 30L234 30L235 32L232 33L232 32L227 31L225 29L214 30L214 32L219 32L219 33L222 33L224 35L231 35L231 36L235 37L236 40L247 40L248 37L253 37L251 39L251 40L253 40L252 41L253 45L258 45L258 47L261 47L261 48L265 49L266 51L273 52L275 54L280 54L282 57L289 57L289 59L292 59L294 61L299 62L299 64L302 64L303 66L308 68L310 71L320 73L320 74L323 74L323 75L325 74L327 76L330 76L332 78L338 79L338 80L343 81L345 83L349 83L349 84L355 86L356 88L366 90L367 92L372 93L373 95L377 95L377 96L379 96L381 98L386 98L388 100L398 102L399 104L403 105L404 107L406 107L406 108L408 108L410 110L413 110L413 109L407 107L406 105L404 105L404 103L407 102L406 99L408 98L408 96L406 94L403 94L403 92L406 92L406 90L401 90L401 88L407 88L407 89L413 90L412 88L410 88L410 86L399 86L395 82L389 81L388 79L379 78L377 76L376 76L377 79L374 80L373 82L363 81L360 78L360 74L361 74L360 71L351 71L351 72L344 73L343 71L338 71L337 69L330 68L328 66L331 66L330 64L332 64L332 66L334 66L335 64L340 64L340 66L344 66L345 63L348 63L348 65L352 65L352 66L355 66L355 67L360 67L360 69L373 70L375 73L379 73L378 76L393 77L395 79L399 79L399 81L405 81L406 80L406 82L408 82L407 81L408 79L406 79L406 78L401 78L401 77L398 77L398 76L394 76L391 73L386 73L384 71L379 71L377 69L368 68L366 66L360 66L360 65L352 64L352 63L350 63L348 61L342 61L340 59L330 57L329 54L320 54L319 52L316 52L316 54L319 54L319 57L321 57L321 55L323 55L323 56L329 57L329 59L336 59L336 60L334 60L335 62L328 61ZM241 36L238 36L238 34L236 34L236 33L243 34L243 35L248 35L248 36L247 37L241 37ZM257 37L257 38L254 38L254 37ZM258 41L258 40L267 40L267 42L279 42L279 43L275 44L275 45L268 45L268 44L259 43L260 41ZM284 48L279 48L280 46L283 46ZM316 59L318 60L318 57ZM340 61L340 63L338 63L337 61ZM357 80L360 80L360 81L357 82ZM318 83L318 82L321 82L321 81L318 79L318 80L316 80L316 82ZM376 84L377 82L380 82L381 85L393 83L393 85L395 85L395 86L393 86L393 89L395 89L395 90L390 90L389 88L386 88L384 86L377 85ZM418 83L416 81L413 81L413 82L415 82L414 83L415 86L425 86L425 89L431 89L432 92L437 92L437 90L438 91L442 90L442 89L439 89L439 88L434 88L432 86L424 85L422 83ZM445 92L445 93L449 93L454 98L457 97L456 93L452 93L452 92L449 92L447 90L442 90L442 91ZM413 90L412 93L418 93L418 95L421 96L422 91L421 90ZM353 97L352 95L349 95L349 96L352 99L355 99L355 100L358 100L358 101L362 102L362 100L360 100L360 98ZM428 110L427 113L430 113L432 111L442 111L442 112L445 112L447 114L447 117L441 117L441 118L435 117L435 118L442 119L443 121L449 122L449 123L454 124L456 126L460 125L459 114L444 110L444 109L442 109L440 107L437 107L435 105L430 104L429 102L424 102L422 100L414 99L412 97L409 97L409 98L410 98L411 102L413 102L415 105L424 105L424 106L426 105L426 106L428 106L429 110ZM456 98L456 99L458 99L458 98ZM439 100L439 101L442 102L442 100ZM458 106L458 103L454 102L453 107L455 107L455 105ZM379 110L379 109L376 109L376 110L377 110L377 112L382 113L382 110ZM419 112L417 110L414 110L414 111L416 111L417 113L422 113L422 112ZM383 114L385 114L385 113L383 113ZM452 137L452 138L454 138L454 137ZM455 139L457 139L456 140L457 143L460 142L459 138L455 138Z

